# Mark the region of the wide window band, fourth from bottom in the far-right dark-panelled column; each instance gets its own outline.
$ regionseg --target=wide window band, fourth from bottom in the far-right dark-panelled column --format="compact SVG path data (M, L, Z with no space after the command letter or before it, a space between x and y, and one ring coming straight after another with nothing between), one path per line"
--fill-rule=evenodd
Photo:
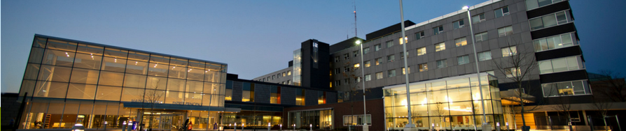
M567 21L566 11L562 11L559 13L545 15L543 17L536 17L536 18L529 20L529 22L530 22L530 29L537 30L537 29L543 29L546 27L555 26L559 24L566 24L568 21Z

